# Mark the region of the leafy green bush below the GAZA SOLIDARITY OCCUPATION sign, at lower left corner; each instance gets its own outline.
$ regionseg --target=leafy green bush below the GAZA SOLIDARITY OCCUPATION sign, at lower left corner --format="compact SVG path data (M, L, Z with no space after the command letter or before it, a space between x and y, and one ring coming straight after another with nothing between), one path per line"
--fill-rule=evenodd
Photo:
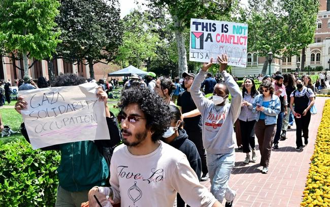
M56 151L32 150L23 138L0 147L0 206L54 206Z

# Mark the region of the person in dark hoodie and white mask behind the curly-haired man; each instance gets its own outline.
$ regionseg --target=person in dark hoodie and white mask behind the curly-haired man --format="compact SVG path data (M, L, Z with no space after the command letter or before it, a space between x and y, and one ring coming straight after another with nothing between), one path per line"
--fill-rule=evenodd
M202 162L196 145L188 139L188 135L183 129L183 120L181 120L181 111L179 108L173 105L169 105L169 107L171 115L171 127L169 127L169 129L164 132L162 135L162 140L186 155L190 167L195 171L198 179L201 181ZM185 206L185 202L181 198L180 194L177 195L177 206Z

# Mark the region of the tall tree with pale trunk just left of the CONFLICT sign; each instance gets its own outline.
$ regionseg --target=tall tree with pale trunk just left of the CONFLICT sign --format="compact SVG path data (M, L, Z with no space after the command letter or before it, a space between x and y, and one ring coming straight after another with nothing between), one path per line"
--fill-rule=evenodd
M187 71L187 50L185 45L184 28L190 26L190 18L219 19L229 15L235 2L233 0L149 0L152 10L166 9L172 18L172 31L175 33L178 50L179 74ZM156 12L154 12L156 13Z

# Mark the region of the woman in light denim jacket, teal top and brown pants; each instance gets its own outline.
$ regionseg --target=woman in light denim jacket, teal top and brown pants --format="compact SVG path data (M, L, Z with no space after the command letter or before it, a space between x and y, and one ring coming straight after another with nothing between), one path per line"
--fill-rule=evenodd
M255 135L259 143L261 154L261 172L268 173L271 158L272 144L276 132L277 115L281 112L281 103L278 96L273 95L274 87L268 80L260 84L262 94L255 97L252 112L256 113Z

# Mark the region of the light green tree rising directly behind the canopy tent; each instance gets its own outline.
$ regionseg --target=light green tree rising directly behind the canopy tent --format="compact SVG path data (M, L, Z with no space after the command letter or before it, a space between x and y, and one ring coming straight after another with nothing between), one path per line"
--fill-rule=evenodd
M123 18L125 32L116 58L116 62L123 68L126 63L140 68L143 62L156 56L156 45L160 40L152 32L154 24L148 16L147 12L134 10Z

